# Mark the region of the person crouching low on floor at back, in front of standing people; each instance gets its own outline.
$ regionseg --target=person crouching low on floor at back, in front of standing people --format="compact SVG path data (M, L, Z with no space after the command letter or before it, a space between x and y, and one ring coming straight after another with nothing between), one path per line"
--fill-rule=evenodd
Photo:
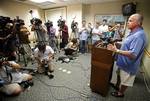
M73 55L78 49L78 40L73 38L65 47L65 55Z

